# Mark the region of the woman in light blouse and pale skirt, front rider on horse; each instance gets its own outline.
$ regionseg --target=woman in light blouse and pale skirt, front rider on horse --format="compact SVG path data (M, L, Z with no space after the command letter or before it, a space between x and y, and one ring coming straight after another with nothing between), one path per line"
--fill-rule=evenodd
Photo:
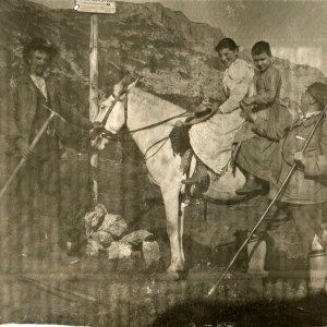
M227 99L216 114L191 129L190 140L197 157L197 168L192 178L183 180L184 184L208 182L207 167L217 174L223 173L231 157L234 136L244 122L240 101L254 90L254 70L238 58L239 47L234 40L223 38L215 49L226 66L222 86Z

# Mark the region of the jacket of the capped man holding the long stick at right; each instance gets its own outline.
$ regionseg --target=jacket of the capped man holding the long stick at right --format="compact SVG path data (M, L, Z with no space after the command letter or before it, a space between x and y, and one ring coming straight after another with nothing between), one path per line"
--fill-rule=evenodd
M272 198L281 186L292 165L294 153L302 150L318 116L294 123L281 142L279 156L271 162L275 180L270 183ZM304 153L304 171L296 169L286 187L282 202L318 204L327 202L327 118L316 129Z

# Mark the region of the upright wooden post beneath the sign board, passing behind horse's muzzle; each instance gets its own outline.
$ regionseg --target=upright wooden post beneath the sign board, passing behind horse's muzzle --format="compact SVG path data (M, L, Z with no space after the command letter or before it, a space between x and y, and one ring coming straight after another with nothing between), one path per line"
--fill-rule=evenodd
M90 15L89 36L89 120L94 122L98 114L98 15ZM90 153L90 167L93 179L93 199L98 203L98 153Z

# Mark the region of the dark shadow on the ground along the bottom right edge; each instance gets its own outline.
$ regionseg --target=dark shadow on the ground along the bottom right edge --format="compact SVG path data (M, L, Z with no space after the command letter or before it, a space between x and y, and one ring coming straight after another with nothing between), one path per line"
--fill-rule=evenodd
M161 314L152 327L301 327L326 326L327 295L301 301L256 301L226 303L193 301L178 304Z

